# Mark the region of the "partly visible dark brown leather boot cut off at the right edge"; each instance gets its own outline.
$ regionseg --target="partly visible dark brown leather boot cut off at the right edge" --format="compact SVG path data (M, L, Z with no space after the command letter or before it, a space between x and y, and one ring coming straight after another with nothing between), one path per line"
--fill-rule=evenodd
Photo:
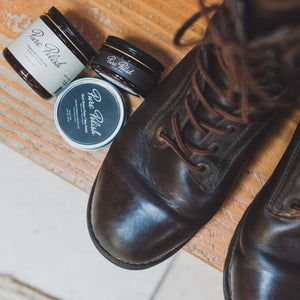
M226 300L300 299L300 123L234 234L224 293Z

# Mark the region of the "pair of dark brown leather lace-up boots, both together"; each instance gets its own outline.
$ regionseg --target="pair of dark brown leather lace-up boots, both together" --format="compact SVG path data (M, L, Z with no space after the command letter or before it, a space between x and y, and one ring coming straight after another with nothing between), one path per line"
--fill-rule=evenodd
M300 94L300 0L225 0L207 33L111 145L88 206L111 262L170 257L223 203L244 162ZM300 125L242 218L225 264L226 299L300 299Z

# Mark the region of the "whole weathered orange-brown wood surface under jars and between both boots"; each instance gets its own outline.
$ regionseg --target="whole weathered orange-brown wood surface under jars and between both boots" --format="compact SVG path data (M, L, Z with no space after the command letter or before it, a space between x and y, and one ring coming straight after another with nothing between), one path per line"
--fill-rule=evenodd
M52 5L95 49L109 34L119 36L161 60L165 74L189 50L173 45L175 32L199 9L197 0L1 0L0 50ZM199 22L187 38L199 38L203 28L205 24ZM131 97L132 110L141 101ZM54 99L47 102L35 95L0 56L0 141L89 192L108 149L88 153L68 146L55 129L53 103ZM299 110L282 117L258 145L221 210L185 247L187 251L222 269L238 220L274 170L299 118Z

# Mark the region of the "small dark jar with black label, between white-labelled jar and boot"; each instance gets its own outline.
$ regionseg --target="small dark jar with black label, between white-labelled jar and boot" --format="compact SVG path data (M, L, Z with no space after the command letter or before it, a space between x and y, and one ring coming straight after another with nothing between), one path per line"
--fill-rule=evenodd
M154 57L115 36L107 38L91 66L101 77L144 98L157 86L164 71Z

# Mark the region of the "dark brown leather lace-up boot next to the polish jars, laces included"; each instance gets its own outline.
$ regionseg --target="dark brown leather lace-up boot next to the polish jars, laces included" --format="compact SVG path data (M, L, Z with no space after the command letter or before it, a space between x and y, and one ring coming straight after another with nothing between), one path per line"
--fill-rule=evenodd
M258 1L258 0L257 0ZM261 1L261 0L259 0ZM128 269L179 250L216 213L241 165L298 96L299 18L259 33L246 0L214 9L199 42L129 119L88 205L98 250ZM245 15L246 14L246 15ZM271 21L268 21L271 24ZM297 50L297 51L296 51Z

